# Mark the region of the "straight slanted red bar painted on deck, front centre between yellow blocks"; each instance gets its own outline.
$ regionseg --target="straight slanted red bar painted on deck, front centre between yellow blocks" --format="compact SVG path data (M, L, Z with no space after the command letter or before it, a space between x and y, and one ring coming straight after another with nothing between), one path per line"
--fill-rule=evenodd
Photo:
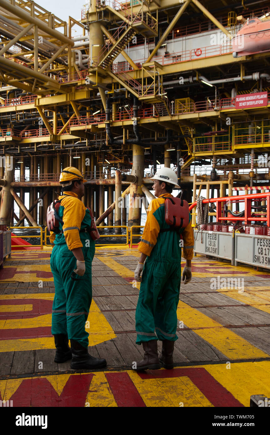
M125 371L106 373L107 381L119 407L145 407L145 403Z

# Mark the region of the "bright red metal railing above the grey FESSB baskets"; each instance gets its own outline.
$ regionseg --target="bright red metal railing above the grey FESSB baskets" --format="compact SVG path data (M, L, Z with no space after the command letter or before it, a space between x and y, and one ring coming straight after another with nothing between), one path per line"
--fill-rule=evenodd
M228 211L228 216L223 215L223 204L222 203L244 203L245 204L245 214L242 217L233 216L230 214L230 211ZM258 217L258 214L256 212L252 212L252 201L266 201L266 217L262 218L261 216ZM221 197L221 198L211 198L211 199L203 199L203 204L210 204L210 203L217 203L217 222L222 221L233 221L233 222L244 222L245 224L248 224L250 222L267 222L267 227L270 227L270 192L267 193L255 193L255 194L247 194L247 195L240 195L240 196L229 196L229 197ZM196 207L197 201L193 202L193 204L190 205L189 210L191 211L194 207Z

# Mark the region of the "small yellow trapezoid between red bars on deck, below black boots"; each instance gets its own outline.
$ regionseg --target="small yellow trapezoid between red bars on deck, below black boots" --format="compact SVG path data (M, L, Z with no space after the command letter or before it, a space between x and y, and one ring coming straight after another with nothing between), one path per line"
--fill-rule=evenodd
M87 393L86 402L89 403L87 406L90 407L117 407L106 376L102 371L97 371L94 374Z

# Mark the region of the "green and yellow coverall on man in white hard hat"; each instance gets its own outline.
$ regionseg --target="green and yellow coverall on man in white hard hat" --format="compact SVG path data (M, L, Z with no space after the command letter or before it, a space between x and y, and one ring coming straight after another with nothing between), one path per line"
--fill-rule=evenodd
M160 232L170 228L165 222L164 203L167 193L151 201L147 221L138 250L147 255L136 308L136 344L150 340L177 340L177 305L181 282L181 243L183 257L193 258L191 216L186 228ZM156 332L156 333L155 333Z

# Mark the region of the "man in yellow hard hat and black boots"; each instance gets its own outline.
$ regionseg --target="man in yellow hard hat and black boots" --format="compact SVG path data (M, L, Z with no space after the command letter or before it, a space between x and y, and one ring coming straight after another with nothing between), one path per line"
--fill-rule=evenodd
M50 232L50 267L55 285L52 334L57 349L54 361L61 363L72 358L73 369L107 365L105 359L94 358L87 350L89 334L85 322L92 301L95 242L87 231L91 227L90 211L81 201L85 181L76 167L63 169L59 179L63 195L58 198L60 233Z

